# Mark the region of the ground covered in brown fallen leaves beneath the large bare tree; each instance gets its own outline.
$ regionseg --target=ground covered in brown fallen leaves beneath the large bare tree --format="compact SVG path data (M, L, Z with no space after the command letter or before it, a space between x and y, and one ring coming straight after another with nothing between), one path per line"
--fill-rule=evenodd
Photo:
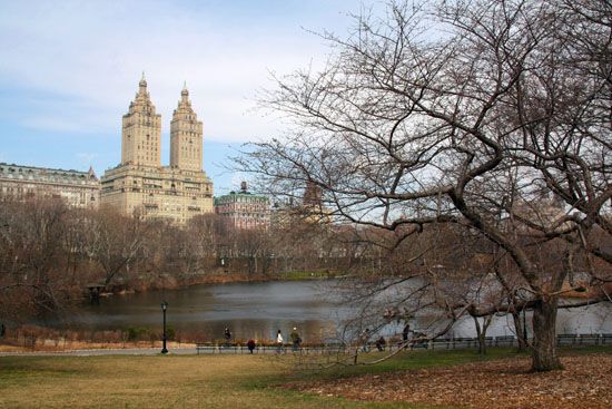
M299 384L316 395L471 408L612 408L612 354L562 358L564 370L529 373L530 360L507 359L447 368ZM295 386L294 386L295 387Z

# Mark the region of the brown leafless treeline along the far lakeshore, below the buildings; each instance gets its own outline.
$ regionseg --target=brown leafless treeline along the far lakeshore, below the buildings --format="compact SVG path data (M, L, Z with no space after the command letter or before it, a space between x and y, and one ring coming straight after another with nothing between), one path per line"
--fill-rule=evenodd
M290 212L267 231L241 231L214 214L177 226L112 208L69 208L61 199L0 204L0 319L53 312L92 284L120 292L333 274L364 256L348 233Z

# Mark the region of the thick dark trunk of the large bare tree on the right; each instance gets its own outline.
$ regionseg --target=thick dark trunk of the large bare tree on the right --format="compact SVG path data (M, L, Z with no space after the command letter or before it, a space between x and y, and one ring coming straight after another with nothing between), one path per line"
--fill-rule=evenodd
M556 354L556 302L557 296L541 299L533 308L533 371L563 368Z

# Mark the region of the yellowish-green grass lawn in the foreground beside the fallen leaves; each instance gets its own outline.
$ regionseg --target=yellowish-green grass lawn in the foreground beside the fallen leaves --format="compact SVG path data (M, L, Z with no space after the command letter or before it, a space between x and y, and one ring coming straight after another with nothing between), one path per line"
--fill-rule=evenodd
M515 356L492 349L485 359ZM277 386L480 359L473 351L415 351L376 367L304 372L290 356L0 357L0 408L424 408Z

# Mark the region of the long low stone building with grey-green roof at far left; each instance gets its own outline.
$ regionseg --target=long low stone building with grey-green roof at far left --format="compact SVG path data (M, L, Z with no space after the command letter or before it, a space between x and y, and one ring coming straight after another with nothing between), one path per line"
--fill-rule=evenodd
M17 199L62 198L71 207L96 208L100 182L92 168L78 172L0 163L0 194Z

